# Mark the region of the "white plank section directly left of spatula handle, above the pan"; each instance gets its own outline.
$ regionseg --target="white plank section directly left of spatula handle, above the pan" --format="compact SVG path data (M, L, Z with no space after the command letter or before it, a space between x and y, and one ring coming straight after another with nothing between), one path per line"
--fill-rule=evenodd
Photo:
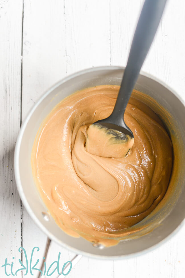
M143 0L110 1L111 65L126 66Z

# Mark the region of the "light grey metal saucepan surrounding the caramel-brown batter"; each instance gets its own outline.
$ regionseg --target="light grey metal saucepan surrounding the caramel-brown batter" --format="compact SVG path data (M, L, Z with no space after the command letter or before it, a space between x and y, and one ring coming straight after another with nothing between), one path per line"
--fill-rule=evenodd
M155 210L134 226L130 233L112 247L104 247L63 232L49 214L32 176L31 151L36 133L56 104L83 88L115 84L120 85L123 67L95 67L74 73L52 86L34 104L24 120L15 147L15 179L24 207L40 229L59 245L96 259L124 259L151 250L174 234L185 218L185 106L178 94L166 84L141 73L135 89L141 98L163 120L173 144L173 169L167 193ZM131 227L130 229L133 229Z

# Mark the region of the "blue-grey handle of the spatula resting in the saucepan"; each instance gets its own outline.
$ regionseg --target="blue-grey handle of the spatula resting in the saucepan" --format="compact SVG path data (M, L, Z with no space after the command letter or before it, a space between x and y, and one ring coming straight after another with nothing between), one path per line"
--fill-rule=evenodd
M167 0L145 0L133 36L127 66L112 114L123 117L139 72L150 49Z

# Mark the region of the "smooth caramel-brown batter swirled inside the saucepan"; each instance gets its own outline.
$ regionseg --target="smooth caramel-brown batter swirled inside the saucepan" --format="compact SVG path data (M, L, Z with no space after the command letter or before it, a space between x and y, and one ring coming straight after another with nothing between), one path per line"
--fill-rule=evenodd
M89 125L111 114L119 88L95 86L65 98L45 119L32 149L34 180L56 223L74 237L106 246L155 209L172 168L163 123L134 97L124 114L134 135L126 156L87 152Z

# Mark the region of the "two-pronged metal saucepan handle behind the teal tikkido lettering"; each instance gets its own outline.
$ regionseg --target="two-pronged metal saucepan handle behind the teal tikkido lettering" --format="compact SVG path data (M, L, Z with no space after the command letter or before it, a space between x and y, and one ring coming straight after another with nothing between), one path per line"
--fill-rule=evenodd
M46 242L46 248L45 248L45 252L44 252L44 257L45 257L45 260L46 258L48 257L49 253L50 253L50 246L51 246L51 239L47 239L47 242ZM82 255L80 254L77 254L75 255L70 261L72 263L72 267L71 267L71 263L67 263L65 265L65 267L63 268L63 272L67 273L69 271L70 268L73 268L77 263L78 261L81 259ZM41 271L43 272L43 269L44 269L44 261L42 263L42 266L41 266ZM40 278L41 277L41 272L39 272L39 275L37 278ZM60 275L58 275L56 278L60 277Z

